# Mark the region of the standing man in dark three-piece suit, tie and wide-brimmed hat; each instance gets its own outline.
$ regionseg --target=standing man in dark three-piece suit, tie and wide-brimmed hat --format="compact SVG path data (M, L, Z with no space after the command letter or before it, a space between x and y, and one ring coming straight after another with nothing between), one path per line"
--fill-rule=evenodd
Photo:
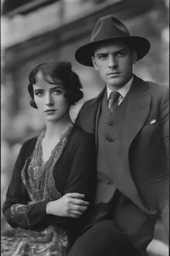
M102 17L76 60L99 72L104 90L80 110L76 123L93 133L97 186L91 223L68 256L147 255L159 217L168 233L169 103L167 88L133 75L150 43Z

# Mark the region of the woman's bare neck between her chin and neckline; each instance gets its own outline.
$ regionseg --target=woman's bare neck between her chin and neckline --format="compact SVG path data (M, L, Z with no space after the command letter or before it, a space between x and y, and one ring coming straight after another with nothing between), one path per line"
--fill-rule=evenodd
M60 137L72 125L70 116L66 119L58 120L56 122L46 121L46 131L44 139L53 139Z

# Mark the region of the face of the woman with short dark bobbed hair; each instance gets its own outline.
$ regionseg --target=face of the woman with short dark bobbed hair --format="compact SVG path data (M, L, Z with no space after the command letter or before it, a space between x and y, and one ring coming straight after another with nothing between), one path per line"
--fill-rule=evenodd
M48 80L49 79L48 77ZM46 121L58 121L69 115L68 100L64 97L62 85L50 85L37 73L37 83L33 85L34 99L40 115Z

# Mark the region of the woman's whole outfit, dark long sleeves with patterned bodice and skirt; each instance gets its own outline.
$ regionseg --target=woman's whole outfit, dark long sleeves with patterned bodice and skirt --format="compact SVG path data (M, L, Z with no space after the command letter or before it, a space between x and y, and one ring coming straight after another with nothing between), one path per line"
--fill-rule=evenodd
M42 161L44 131L21 148L3 204L14 227L1 236L1 255L66 255L88 212L79 219L46 215L46 203L66 193L84 193L92 202L96 175L94 137L78 126L60 137L46 163Z

